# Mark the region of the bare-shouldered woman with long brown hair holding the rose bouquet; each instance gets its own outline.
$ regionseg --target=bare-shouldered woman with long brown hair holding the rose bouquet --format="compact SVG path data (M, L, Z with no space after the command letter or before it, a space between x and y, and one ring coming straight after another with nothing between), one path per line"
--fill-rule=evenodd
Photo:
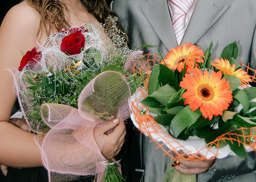
M27 132L24 120L9 122L16 95L13 89L13 76L6 69L19 67L20 50L27 52L36 44L43 44L51 33L69 29L71 25L104 23L110 15L114 14L105 0L26 0L11 8L2 21L0 27L0 164L15 167L13 170L24 168L26 170L22 172L24 179L16 176L16 180L47 181L47 175L45 177L44 169L39 167L43 166L43 163L40 149L34 141L35 134ZM116 120L104 126L105 131L116 126L112 133L104 134L105 145L101 153L106 159L115 156L124 143L126 135L124 122L116 122ZM1 168L4 169L3 166ZM9 169L7 178L15 181L14 178L11 179L12 175L9 175L11 172L12 170ZM40 177L41 174L44 177Z

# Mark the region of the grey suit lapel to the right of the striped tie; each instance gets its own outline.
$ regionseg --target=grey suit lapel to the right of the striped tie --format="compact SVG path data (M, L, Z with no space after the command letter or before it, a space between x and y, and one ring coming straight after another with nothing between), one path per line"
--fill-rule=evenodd
M197 41L215 24L230 6L230 0L199 0L194 8L181 44Z

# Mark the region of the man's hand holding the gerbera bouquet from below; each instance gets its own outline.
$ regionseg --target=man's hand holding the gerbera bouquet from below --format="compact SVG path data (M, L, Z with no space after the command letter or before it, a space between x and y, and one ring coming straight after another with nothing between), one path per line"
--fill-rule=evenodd
M172 152L175 158L179 158L180 154L183 154L184 152L179 151ZM199 153L196 154L197 157L202 157ZM183 157L186 157L186 155L183 155ZM188 158L188 156L187 156ZM180 164L182 164L185 167L182 167L180 165L174 166L177 171L179 171L182 174L187 175L193 175L193 174L201 174L210 167L212 167L215 164L215 158L214 159L205 159L202 161L179 161Z

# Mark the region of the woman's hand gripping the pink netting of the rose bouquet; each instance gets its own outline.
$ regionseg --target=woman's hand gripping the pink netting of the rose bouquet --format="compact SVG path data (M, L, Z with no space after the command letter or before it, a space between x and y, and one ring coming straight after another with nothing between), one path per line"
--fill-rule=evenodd
M113 129L113 131L107 134L106 132L110 129ZM101 127L96 128L96 130L101 130L101 132L94 132L99 133L99 135L102 135L102 132L104 132L104 146L101 150L102 155L107 160L112 159L113 157L115 157L116 154L120 152L121 147L124 144L124 137L126 136L126 126L124 124L124 121L119 122L119 119L115 118L114 120L109 121L108 124L103 126L103 131ZM94 135L94 138L96 138L96 140L98 139L98 137L99 136L97 136L97 134L96 136Z

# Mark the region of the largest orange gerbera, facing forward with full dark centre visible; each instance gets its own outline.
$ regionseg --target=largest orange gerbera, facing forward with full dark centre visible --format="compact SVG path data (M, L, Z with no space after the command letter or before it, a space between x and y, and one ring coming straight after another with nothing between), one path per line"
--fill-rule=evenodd
M198 68L194 69L193 75L185 74L180 87L187 89L182 97L184 104L190 104L191 110L200 108L202 116L212 120L213 115L222 115L233 100L230 85L226 79L221 79L221 72L212 72L209 75L205 70L202 73Z

